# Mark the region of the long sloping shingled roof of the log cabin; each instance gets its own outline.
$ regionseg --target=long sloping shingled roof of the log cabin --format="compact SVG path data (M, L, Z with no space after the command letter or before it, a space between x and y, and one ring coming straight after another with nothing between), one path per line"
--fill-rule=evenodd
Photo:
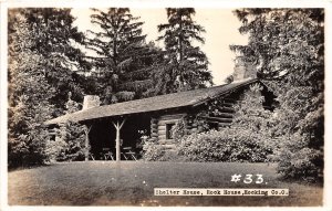
M58 118L48 120L46 125L64 123L66 120L84 122L111 116L125 116L138 113L148 113L156 110L165 110L177 107L195 106L208 99L222 96L229 92L236 91L240 87L258 82L257 78L248 78L243 81L232 82L220 86L209 88L200 88L167 95L159 95L143 99L129 101L124 103L104 105L80 110L76 113L60 116Z

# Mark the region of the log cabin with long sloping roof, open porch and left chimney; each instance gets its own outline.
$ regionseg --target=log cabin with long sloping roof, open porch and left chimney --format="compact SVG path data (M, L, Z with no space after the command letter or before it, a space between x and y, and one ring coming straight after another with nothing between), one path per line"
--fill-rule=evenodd
M235 81L230 84L136 101L100 106L97 96L85 96L83 109L46 122L54 126L68 120L86 126L86 147L90 154L98 155L110 149L121 160L122 150L135 149L143 135L165 150L175 147L172 128L180 120L188 134L206 129L230 127L234 105L250 85L263 87L263 106L272 109L274 95L257 78ZM89 155L85 155L89 160Z

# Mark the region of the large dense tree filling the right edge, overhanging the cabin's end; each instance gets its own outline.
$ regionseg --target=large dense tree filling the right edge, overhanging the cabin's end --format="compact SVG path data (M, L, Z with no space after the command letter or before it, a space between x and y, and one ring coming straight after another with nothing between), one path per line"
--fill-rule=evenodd
M242 9L235 13L249 43L231 49L256 65L258 77L269 81L280 103L274 119L282 146L279 172L289 178L322 178L324 11Z

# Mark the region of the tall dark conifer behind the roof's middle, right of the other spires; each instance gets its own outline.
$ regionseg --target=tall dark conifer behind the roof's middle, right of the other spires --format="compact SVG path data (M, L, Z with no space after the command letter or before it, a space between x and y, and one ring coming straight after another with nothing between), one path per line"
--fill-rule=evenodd
M193 8L167 8L168 23L159 24L164 32L157 40L165 43L165 52L159 68L155 68L155 93L166 94L206 87L212 84L208 71L208 60L194 42L205 43L200 33L205 29L193 20Z

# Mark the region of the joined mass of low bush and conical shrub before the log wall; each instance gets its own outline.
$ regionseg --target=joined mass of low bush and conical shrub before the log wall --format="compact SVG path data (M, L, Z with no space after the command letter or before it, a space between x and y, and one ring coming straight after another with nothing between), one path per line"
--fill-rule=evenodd
M178 155L191 161L268 161L276 145L269 133L270 112L262 107L261 87L252 85L237 104L231 127L183 137Z

